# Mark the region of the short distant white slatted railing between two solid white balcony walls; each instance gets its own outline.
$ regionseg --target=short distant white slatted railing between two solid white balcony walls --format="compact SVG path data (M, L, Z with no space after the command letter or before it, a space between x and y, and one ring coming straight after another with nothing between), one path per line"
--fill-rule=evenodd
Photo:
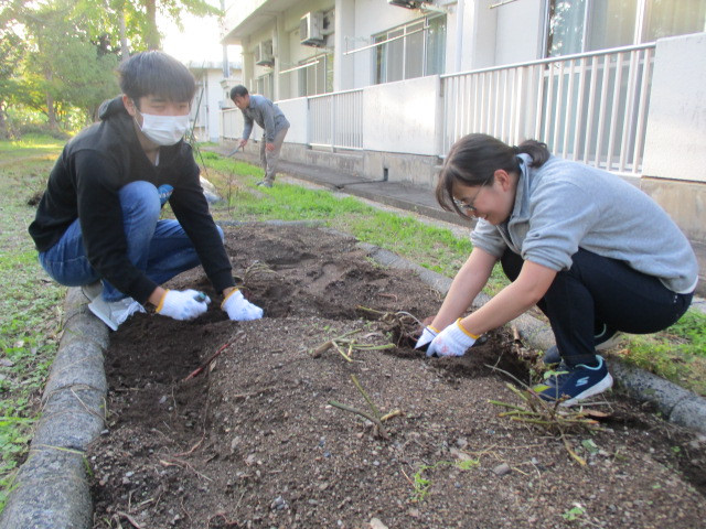
M363 149L363 90L308 98L309 144L331 149Z

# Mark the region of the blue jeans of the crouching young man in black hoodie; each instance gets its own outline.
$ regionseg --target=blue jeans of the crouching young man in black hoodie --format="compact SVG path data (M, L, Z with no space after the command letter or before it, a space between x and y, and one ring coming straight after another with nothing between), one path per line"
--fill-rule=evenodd
M127 257L157 284L201 263L191 239L176 220L160 220L161 204L157 187L137 181L120 192ZM218 228L221 238L223 230ZM74 220L62 238L40 253L40 263L61 284L81 287L100 278L84 249L81 225ZM103 279L103 299L117 301L125 294Z

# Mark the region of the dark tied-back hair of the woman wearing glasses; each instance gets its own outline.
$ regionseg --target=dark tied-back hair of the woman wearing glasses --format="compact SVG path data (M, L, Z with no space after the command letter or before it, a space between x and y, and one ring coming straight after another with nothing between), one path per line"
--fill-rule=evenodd
M488 134L464 136L453 143L446 156L436 188L437 202L443 209L467 217L453 202L453 184L492 185L493 174L499 169L520 174L520 153L530 154L532 168L542 166L550 155L546 143L535 140L511 147Z

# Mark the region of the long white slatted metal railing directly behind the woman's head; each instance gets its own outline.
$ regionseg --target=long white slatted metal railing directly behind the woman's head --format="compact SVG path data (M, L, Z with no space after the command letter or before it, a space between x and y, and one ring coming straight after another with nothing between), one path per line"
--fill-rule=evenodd
M441 76L442 153L470 132L617 173L642 170L654 43Z

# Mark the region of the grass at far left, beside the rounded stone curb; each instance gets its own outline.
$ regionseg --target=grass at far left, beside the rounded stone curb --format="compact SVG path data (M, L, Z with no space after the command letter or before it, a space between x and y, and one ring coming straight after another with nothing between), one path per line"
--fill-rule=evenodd
M56 353L66 290L49 280L26 228L28 201L44 188L62 142L0 141L0 509L26 456L39 399Z

